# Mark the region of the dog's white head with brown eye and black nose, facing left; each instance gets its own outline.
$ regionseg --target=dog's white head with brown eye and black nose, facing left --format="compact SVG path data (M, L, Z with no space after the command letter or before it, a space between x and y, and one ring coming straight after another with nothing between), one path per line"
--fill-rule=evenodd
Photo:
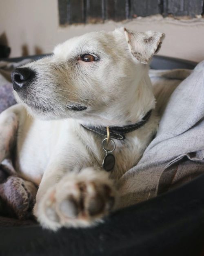
M119 102L131 101L133 87L147 73L146 64L163 38L159 32L120 28L69 39L52 56L12 72L16 100L40 118L104 124L108 113L117 116Z

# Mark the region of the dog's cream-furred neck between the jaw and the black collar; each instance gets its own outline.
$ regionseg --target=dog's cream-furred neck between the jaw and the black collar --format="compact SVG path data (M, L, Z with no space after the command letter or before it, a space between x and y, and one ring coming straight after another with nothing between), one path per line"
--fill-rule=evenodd
M81 124L111 127L140 122L148 111L155 108L155 97L148 72L144 72L139 81L137 79L124 91L123 99L115 100L109 111L82 120Z

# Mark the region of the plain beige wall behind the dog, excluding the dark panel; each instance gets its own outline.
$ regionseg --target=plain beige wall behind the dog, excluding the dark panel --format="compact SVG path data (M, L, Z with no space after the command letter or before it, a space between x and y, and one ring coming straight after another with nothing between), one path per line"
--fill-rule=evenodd
M154 16L129 22L59 27L58 0L0 0L0 41L7 38L10 57L51 52L66 39L94 30L149 29L164 32L160 55L201 61L204 59L204 19L174 20ZM3 36L1 36L3 35Z

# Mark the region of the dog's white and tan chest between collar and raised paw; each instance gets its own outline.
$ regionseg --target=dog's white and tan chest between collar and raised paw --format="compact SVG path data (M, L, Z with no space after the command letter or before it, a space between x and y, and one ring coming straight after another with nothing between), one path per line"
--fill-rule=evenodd
M112 178L120 178L137 164L156 126L157 122L150 121L142 129L126 134L125 140L115 140ZM26 118L18 129L15 167L23 177L36 184L51 163L59 163L58 168L63 167L65 172L88 166L102 167L105 156L102 140L102 136L85 130L72 119L40 121Z

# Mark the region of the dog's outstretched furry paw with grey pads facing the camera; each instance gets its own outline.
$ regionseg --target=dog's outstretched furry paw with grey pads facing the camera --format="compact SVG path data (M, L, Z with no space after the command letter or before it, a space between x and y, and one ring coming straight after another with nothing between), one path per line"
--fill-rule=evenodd
M116 201L116 190L108 174L86 168L66 177L40 199L34 214L42 226L88 227L102 222Z

